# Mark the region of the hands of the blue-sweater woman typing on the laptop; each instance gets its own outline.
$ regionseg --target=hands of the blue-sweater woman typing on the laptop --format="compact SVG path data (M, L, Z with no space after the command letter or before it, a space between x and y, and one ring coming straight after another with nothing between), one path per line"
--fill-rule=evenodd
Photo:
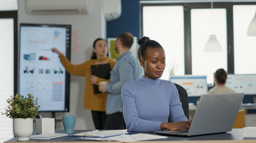
M185 130L189 129L191 125L191 121L180 121L180 122L172 122L172 123L161 123L161 130Z

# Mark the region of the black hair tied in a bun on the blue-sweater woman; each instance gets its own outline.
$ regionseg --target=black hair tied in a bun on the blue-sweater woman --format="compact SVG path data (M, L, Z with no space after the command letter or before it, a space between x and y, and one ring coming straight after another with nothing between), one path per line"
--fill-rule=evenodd
M163 47L155 40L150 40L148 37L142 37L138 40L138 44L140 45L138 49L138 57L139 59L145 58L145 53L147 48L161 48ZM164 49L163 49L164 50Z

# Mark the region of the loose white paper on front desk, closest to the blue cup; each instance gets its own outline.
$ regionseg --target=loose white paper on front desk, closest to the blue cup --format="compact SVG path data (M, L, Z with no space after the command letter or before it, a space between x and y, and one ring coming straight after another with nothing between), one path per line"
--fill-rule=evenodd
M83 133L77 133L73 134L74 136L85 136L85 137L109 137L109 136L115 136L115 135L121 135L128 133L127 129L124 130L108 130L108 131L89 131L89 132L83 132Z

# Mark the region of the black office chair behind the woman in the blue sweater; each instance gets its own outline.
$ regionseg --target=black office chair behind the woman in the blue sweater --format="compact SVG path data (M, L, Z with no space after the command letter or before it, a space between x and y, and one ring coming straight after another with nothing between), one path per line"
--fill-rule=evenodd
M188 110L188 95L187 95L187 91L181 87L181 85L174 83L178 93L179 93L179 97L180 97L180 102L182 104L182 109L184 111L184 115L187 117L187 119L189 120L189 110ZM168 118L168 122L173 122L171 114L169 115Z

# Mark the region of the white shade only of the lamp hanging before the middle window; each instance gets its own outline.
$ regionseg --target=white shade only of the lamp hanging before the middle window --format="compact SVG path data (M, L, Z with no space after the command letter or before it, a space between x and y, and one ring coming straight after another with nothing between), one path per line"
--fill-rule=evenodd
M216 38L216 35L210 35L209 40L205 44L205 52L221 52L221 44Z

